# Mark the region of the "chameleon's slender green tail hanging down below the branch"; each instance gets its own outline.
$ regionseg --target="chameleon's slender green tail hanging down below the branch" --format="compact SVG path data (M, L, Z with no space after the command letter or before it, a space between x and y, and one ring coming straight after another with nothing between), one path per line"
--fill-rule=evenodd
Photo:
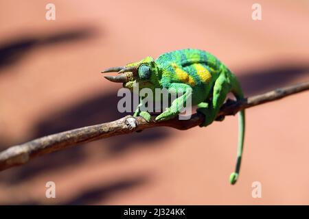
M244 94L242 93L240 83L234 75L232 75L232 84L233 88L231 92L234 94L234 96L236 96L236 99L243 99ZM238 118L238 149L237 149L236 169L235 172L232 172L229 177L229 181L232 185L236 183L240 172L240 164L242 162L242 151L244 148L244 129L245 129L245 116L244 116L244 110L241 110L239 112L239 118Z

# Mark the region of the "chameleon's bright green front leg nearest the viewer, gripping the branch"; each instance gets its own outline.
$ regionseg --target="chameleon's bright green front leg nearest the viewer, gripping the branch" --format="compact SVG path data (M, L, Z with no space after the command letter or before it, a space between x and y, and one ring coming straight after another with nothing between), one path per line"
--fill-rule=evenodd
M164 112L155 118L157 121L169 120L177 116L186 107L188 100L192 97L192 88L185 83L172 83L168 92L182 95L174 99L170 107L166 108Z

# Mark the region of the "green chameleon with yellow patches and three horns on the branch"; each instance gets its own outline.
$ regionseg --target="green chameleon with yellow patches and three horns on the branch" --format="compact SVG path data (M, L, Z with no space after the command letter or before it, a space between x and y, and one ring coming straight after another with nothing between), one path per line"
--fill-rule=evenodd
M216 116L225 102L227 94L232 92L236 99L244 98L242 88L236 76L214 55L198 49L183 49L160 55L157 60L146 57L139 62L127 64L124 67L107 68L102 73L118 72L117 76L106 76L109 81L123 83L124 88L133 90L135 86L150 88L165 88L171 92L181 92L168 108L155 118L157 121L174 118L181 112L180 106L185 106L188 98L192 105L198 105L197 112L205 116L200 125L205 127L214 120L223 120ZM134 116L143 116L150 120L148 112L141 112L143 105L140 97ZM231 173L230 182L235 184L240 172L242 149L244 144L244 110L240 111L238 157L235 172Z

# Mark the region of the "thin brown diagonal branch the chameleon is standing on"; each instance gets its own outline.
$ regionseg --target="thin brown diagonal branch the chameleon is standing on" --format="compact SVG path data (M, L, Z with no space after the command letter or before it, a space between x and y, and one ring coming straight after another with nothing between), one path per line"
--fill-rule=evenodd
M227 103L221 107L218 116L235 115L240 110L282 99L285 96L304 90L309 90L309 81L299 83L295 86L279 88L271 92L251 96L240 101L228 100ZM12 166L25 164L31 159L34 159L34 157L67 149L69 146L74 146L84 142L124 135L134 131L150 129L152 127L172 127L185 130L203 123L203 115L201 114L193 114L190 120L179 120L178 118L173 118L172 120L155 122L153 119L154 117L149 123L147 123L146 120L140 116L125 116L124 118L120 118L110 123L102 123L100 125L92 125L89 127L64 131L38 138L24 144L11 146L0 153L0 171L11 168Z

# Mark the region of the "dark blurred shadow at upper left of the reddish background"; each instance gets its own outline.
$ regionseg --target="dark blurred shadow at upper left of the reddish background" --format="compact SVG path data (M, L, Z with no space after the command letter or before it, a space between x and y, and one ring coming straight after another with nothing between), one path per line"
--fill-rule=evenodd
M49 36L19 36L14 40L0 42L0 68L12 66L27 53L38 47L84 40L97 34L94 27L80 27Z

